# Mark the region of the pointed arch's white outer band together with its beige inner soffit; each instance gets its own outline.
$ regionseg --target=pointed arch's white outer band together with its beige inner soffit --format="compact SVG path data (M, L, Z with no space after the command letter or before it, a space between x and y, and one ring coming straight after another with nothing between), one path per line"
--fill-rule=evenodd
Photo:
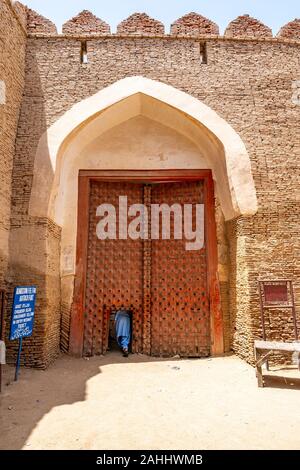
M213 170L227 220L256 213L250 158L232 126L191 95L140 76L120 80L80 101L41 137L35 158L29 213L49 216L62 225L61 205L55 200L66 155L70 161L75 150L78 155L83 146L96 137L95 131L99 135L141 114L178 130L202 147Z

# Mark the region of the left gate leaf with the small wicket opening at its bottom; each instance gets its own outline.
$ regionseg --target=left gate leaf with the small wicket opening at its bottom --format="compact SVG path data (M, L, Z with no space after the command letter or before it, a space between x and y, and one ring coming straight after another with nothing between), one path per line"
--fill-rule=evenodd
M84 355L105 353L108 318L111 310L123 304L133 311L134 352L142 347L143 242L141 240L99 240L96 216L100 204L117 209L119 196L128 197L128 205L143 202L143 186L130 183L91 182L89 208L88 260L84 325Z

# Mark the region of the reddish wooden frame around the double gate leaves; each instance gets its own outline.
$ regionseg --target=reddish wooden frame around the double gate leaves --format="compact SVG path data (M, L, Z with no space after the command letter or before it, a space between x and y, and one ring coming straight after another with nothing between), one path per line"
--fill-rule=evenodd
M218 245L215 220L214 182L211 170L80 170L78 175L77 244L74 296L71 307L69 353L83 355L86 294L89 196L91 181L171 183L204 181L207 288L210 303L212 356L224 353L224 331L218 280Z

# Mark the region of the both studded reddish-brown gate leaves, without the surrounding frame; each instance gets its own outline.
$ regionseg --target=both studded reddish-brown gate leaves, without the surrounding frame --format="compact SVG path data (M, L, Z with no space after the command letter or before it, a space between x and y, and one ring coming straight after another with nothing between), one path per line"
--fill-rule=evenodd
M154 356L210 354L205 247L186 251L185 240L99 240L97 207L203 202L203 182L155 185L92 181L84 312L84 355L106 352L110 312L133 311L133 352ZM171 223L173 220L171 218ZM150 224L149 224L150 227ZM118 234L117 223L117 234ZM172 228L171 228L172 233Z

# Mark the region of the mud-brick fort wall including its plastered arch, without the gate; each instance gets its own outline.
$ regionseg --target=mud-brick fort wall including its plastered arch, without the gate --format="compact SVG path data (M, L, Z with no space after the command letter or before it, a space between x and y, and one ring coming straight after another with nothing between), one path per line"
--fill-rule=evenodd
M69 350L79 170L211 170L220 352L253 362L262 335L259 279L293 280L300 329L300 19L273 36L244 15L221 36L196 13L174 20L170 33L136 13L113 34L83 11L58 34L38 13L0 0L0 48L0 281L8 293L6 336L13 287L38 287L26 365L45 368L60 348ZM133 92L125 96L127 89ZM122 113L127 119L119 122ZM104 129L93 139L93 129L85 131L91 118ZM222 139L223 128L232 138L228 130ZM137 135L148 139L138 156ZM150 265L149 249L141 259ZM143 282L147 331L150 279ZM289 314L272 315L269 339L293 340ZM149 337L142 342L150 353ZM12 360L9 342L8 352Z

